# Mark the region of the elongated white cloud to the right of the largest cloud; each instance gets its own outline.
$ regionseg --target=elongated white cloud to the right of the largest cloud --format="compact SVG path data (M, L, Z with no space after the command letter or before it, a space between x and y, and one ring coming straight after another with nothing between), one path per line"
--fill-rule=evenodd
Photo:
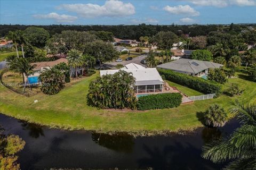
M190 16L198 16L200 13L189 5L178 5L178 6L165 6L163 8L165 11L170 12L172 14L184 14Z

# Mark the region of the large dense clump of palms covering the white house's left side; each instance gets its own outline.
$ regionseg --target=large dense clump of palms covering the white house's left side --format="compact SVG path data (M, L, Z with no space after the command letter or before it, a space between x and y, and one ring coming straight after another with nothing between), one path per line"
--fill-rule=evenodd
M89 85L87 104L98 108L135 109L134 85L132 74L122 70L98 77Z

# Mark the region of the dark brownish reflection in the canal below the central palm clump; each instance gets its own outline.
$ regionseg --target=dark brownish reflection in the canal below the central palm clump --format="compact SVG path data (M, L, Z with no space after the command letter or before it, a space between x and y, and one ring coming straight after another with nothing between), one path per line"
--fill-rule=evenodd
M132 152L134 138L127 133L104 134L92 132L92 140L100 146L119 152Z

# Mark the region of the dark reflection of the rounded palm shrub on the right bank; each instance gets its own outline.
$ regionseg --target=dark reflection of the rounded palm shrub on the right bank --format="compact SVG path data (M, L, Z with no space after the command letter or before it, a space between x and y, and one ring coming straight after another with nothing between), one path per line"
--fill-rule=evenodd
M220 137L221 137L221 130L219 128L206 127L202 130L202 139L204 140L204 143L219 139Z

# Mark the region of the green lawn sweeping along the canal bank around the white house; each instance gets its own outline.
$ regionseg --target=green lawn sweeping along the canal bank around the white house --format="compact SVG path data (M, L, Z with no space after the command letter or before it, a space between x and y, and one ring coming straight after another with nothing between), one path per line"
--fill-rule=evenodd
M203 126L198 120L197 112L205 111L214 103L222 105L226 111L230 107L230 101L235 99L243 100L245 103L256 103L256 83L236 78L230 79L225 88L231 83L238 83L245 89L244 94L239 97L222 95L217 99L196 101L177 108L146 112L101 110L86 105L89 83L97 76L99 72L89 78L68 84L68 87L54 96L39 93L25 97L0 86L0 113L54 128L156 134L192 130ZM178 89L186 94L197 94L188 88L178 87ZM34 104L34 100L38 100L38 103Z

